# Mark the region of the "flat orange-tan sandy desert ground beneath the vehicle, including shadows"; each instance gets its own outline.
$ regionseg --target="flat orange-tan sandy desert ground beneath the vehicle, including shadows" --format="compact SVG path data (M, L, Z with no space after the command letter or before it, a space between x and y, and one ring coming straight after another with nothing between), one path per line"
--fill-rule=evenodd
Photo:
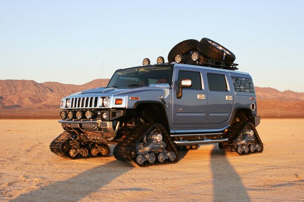
M173 165L69 160L49 150L57 120L0 120L0 201L304 201L304 119L263 119L262 154L215 144ZM113 148L113 147L111 147Z

